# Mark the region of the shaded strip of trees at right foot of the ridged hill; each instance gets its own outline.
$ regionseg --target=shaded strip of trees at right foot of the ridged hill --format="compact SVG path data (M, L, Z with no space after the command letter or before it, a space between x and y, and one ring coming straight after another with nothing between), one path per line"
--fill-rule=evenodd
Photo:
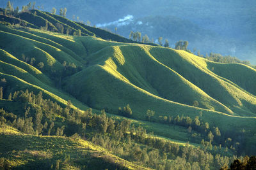
M170 125L180 125L188 128L188 132L191 134L191 142L198 142L198 138L203 138L201 141L202 146L212 149L211 143L219 145L220 148L230 148L233 153L243 153L243 132L225 132L221 133L218 127L212 127L208 122L202 122L200 117L195 117L194 119L190 117L166 117L159 116L161 123ZM198 132L198 133L196 133ZM233 140L233 139L234 140ZM208 140L208 141L206 141ZM226 150L227 150L226 149Z

